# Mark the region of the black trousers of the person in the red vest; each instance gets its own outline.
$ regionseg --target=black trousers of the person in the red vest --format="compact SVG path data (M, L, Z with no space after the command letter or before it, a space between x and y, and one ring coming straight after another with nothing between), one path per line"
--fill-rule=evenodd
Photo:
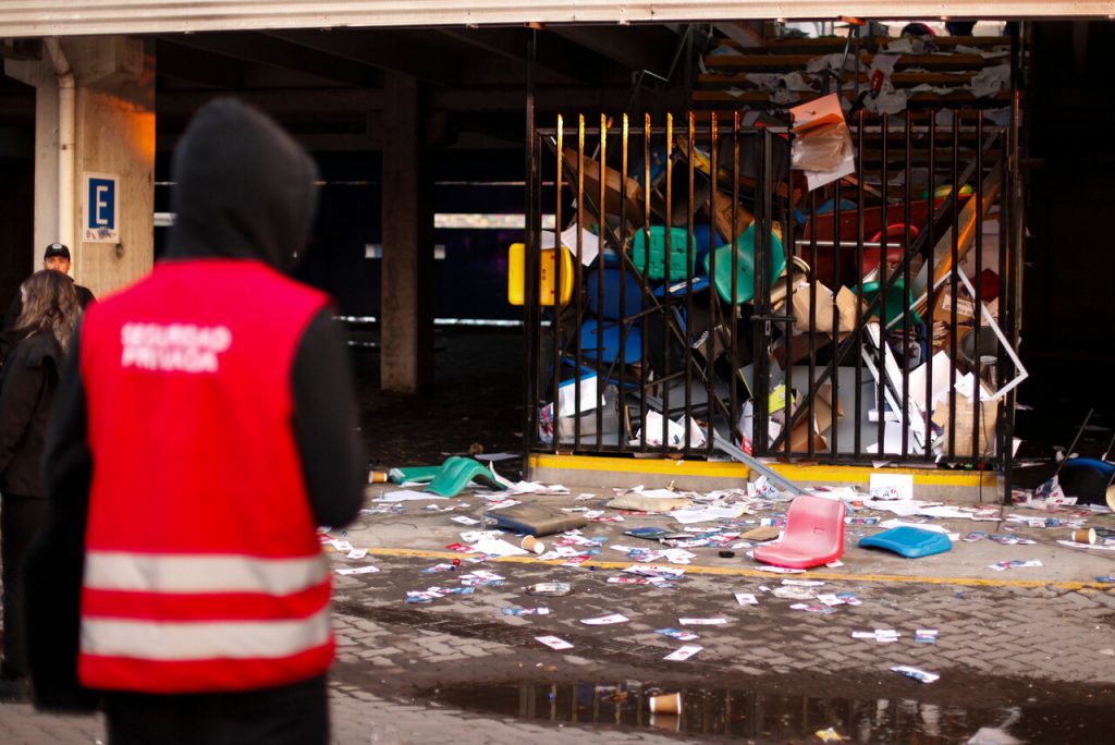
M235 694L109 693L109 745L326 745L326 676Z

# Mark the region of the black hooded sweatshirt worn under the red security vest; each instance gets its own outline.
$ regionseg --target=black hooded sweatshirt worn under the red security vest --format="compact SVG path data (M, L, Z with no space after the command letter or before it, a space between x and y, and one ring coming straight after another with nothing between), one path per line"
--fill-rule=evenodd
M265 115L234 99L206 104L175 149L172 175L176 220L162 261L221 258L288 269L304 245L317 172L309 155ZM50 515L26 563L28 651L36 705L42 708L79 709L96 702L94 691L77 683L85 528L95 465L79 369L80 331L78 327L71 341L47 434L43 474ZM345 525L362 502L366 458L343 337L328 310L309 323L299 341L292 389L294 438L314 519L320 525Z

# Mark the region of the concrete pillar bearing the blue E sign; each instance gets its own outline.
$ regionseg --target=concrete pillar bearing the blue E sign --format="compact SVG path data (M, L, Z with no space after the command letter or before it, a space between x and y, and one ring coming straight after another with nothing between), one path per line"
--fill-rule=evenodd
M70 246L70 273L101 297L151 271L154 260L155 60L138 39L67 37L60 40L74 74L71 235L59 224L59 78L55 62L7 60L4 71L36 88L33 265L55 241ZM118 238L86 240L86 176L116 177ZM64 183L65 178L61 180Z

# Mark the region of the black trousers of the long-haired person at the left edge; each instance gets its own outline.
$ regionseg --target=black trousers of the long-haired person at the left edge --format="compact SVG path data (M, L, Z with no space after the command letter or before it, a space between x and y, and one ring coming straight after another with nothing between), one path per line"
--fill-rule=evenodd
M0 497L0 560L3 561L3 675L22 677L27 667L23 557L47 522L47 501L37 496Z

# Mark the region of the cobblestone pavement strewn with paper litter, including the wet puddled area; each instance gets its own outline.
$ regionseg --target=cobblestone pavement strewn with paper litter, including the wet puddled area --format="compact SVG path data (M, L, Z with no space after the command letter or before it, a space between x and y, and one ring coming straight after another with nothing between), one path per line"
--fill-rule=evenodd
M575 500L545 499L558 505ZM863 741L909 741L914 735L894 727L913 718L918 732L938 735L924 742L967 742L979 727L1005 718L1025 723L1028 712L1040 709L1032 719L1049 724L1029 725L1028 739L1050 742L1058 738L1043 726L1083 727L1065 722L1089 722L1097 712L1107 716L1115 704L1115 589L1096 582L1097 575L1113 573L1115 552L1058 545L1064 531L1021 529L1018 535L1037 542L959 542L947 554L922 560L855 549L850 534L845 565L808 572L824 586L798 590L758 571L741 552L721 559L715 550L694 549L698 558L685 575L672 588L658 588L608 581L631 562L607 546L640 543L622 534L628 528L663 524L662 517L628 515L622 523L590 524L586 534L609 540L581 567L516 557L478 564L465 560L453 571L424 573L466 559L446 550L462 530L449 517L477 516L477 500L466 494L439 504L462 502L469 510L434 512L418 503L401 514L367 514L345 539L370 553L363 559L331 554L338 569L379 569L334 578L334 742L711 742L725 734L754 742L817 742L812 733L825 723L849 731L862 724L864 707L876 720L880 712L890 718L883 729L862 731L857 738ZM1113 526L1115 517L1095 516L1089 524ZM946 525L1002 530L998 523ZM988 569L1002 559L1034 558L1044 565ZM476 569L496 572L505 582L428 604L405 602L410 590L459 588L458 578ZM526 593L529 586L551 580L572 583L573 592L556 598ZM736 592L755 594L758 604L737 603ZM796 610L791 606L816 601L778 597L792 592L850 592L860 604L837 606L831 613ZM512 607L550 612L504 615ZM610 613L629 620L582 622ZM681 618L723 618L724 623L682 626ZM661 628L683 628L698 638L678 641L656 632ZM890 644L852 637L875 629L901 637ZM918 629L935 629L937 642L915 642ZM572 648L546 648L536 640L546 635ZM702 649L685 661L663 659L682 644ZM919 684L891 673L896 665L941 679ZM651 726L646 699L673 690L685 691L681 719L660 717ZM1075 718L1058 718L1069 715ZM1109 716L1102 720L1111 724ZM679 726L682 734L669 732ZM90 743L101 733L95 718L0 706L3 743ZM1080 731L1060 742L1105 738Z

